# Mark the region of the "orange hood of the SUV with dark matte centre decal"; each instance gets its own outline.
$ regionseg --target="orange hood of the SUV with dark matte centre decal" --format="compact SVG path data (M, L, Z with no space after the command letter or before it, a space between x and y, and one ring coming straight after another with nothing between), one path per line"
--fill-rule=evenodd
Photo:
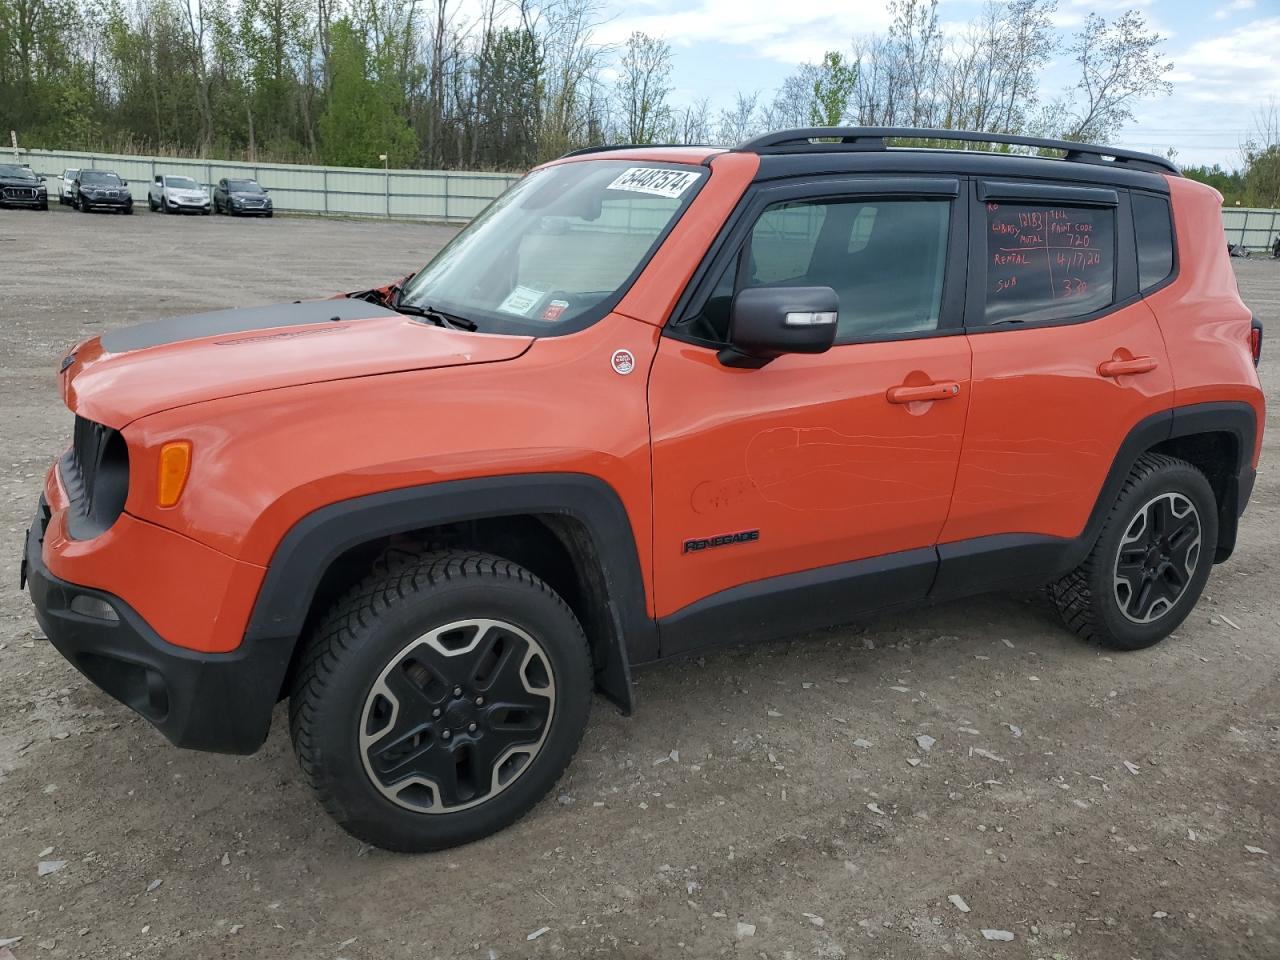
M220 310L111 330L63 360L79 416L122 429L188 403L326 380L513 360L531 337L449 330L358 300Z

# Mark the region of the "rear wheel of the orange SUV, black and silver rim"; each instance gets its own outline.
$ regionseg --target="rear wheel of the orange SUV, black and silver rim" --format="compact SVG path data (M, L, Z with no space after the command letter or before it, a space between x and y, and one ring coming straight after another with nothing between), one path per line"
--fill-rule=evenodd
M1217 549L1217 500L1190 463L1146 453L1084 563L1050 586L1075 634L1123 650L1164 640L1192 612Z

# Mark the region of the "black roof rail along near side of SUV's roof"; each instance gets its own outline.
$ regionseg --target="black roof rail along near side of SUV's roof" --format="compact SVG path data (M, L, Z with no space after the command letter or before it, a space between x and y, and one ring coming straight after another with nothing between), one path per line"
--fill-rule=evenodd
M1116 164L1139 170L1171 173L1178 177L1176 165L1156 156L1120 147L1075 143L1069 140L1021 137L1014 133L978 133L977 131L942 131L925 127L801 127L792 131L765 133L742 141L735 150L750 154L826 152L846 150L887 150L886 140L951 140L964 143L1009 143L1041 150L1061 150L1064 160L1085 164ZM827 141L827 142L823 142ZM831 142L836 141L836 142Z

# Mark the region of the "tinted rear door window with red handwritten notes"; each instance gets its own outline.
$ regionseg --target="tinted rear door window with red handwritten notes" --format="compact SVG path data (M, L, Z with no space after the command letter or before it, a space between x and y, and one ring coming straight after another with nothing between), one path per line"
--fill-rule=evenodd
M1070 320L1115 301L1115 209L988 202L986 323Z

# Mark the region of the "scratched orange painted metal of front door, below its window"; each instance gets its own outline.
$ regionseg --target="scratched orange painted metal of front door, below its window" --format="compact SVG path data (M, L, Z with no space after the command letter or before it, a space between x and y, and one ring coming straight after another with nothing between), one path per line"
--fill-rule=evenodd
M740 584L934 544L969 366L964 337L847 344L759 370L664 338L649 397L658 616ZM887 398L929 381L959 393ZM691 536L749 529L759 529L750 549L682 549Z

